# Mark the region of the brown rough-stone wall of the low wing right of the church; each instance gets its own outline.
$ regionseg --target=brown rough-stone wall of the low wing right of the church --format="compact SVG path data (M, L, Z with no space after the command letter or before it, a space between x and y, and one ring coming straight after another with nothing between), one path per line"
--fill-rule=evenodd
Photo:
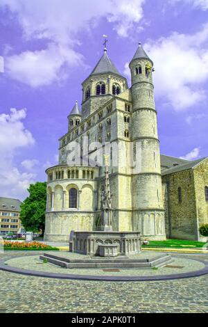
M173 239L202 239L198 228L202 223L208 223L208 200L205 196L208 159L164 170L162 182L166 236Z

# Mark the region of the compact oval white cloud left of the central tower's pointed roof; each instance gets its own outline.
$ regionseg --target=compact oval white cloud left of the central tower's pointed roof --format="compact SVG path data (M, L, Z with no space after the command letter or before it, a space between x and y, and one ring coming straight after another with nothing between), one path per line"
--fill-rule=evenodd
M66 77L66 65L83 65L83 56L69 47L53 43L41 51L24 51L6 58L6 70L10 77L33 88L62 81Z

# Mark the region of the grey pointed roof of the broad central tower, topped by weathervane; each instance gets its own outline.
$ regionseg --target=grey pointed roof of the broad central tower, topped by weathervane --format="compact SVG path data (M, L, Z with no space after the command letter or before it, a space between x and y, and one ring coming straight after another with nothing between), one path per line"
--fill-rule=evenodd
M117 68L115 67L114 63L112 63L112 61L110 60L109 56L107 56L106 48L104 49L103 56L98 61L98 63L96 64L94 70L92 70L92 73L90 75L102 74L102 73L113 73L122 76L117 70Z

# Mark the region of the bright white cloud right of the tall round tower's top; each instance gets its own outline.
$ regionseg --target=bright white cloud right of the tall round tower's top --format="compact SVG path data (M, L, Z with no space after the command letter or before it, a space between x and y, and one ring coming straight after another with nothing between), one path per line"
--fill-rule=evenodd
M144 45L155 64L156 97L175 110L206 99L208 79L208 24L195 34L172 33Z

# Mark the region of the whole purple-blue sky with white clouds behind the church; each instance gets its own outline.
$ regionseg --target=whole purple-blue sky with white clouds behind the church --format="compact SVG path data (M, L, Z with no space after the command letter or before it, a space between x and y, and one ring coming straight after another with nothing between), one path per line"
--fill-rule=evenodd
M81 83L107 54L128 78L153 60L162 154L208 156L208 0L0 0L0 196L27 196L58 162Z

